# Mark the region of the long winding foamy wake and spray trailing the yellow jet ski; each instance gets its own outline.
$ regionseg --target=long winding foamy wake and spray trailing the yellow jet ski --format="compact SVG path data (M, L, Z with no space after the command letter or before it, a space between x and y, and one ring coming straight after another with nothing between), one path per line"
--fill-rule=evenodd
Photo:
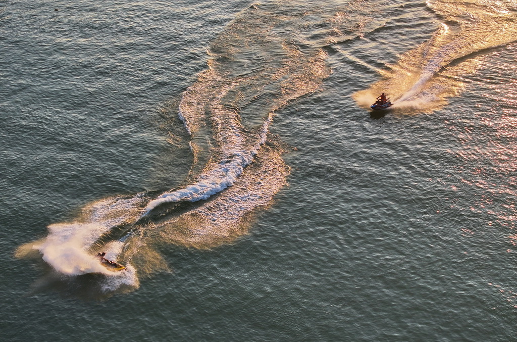
M137 273L168 270L164 245L212 248L246 234L290 173L281 158L288 149L268 132L273 116L316 92L330 75L326 49L382 25L372 19L378 12L370 1L337 0L254 4L239 13L211 43L208 69L181 95L177 113L193 156L186 184L158 197L97 201L18 256L37 250L50 273L68 281L102 274L99 292L112 293L138 287ZM104 269L99 251L128 271Z

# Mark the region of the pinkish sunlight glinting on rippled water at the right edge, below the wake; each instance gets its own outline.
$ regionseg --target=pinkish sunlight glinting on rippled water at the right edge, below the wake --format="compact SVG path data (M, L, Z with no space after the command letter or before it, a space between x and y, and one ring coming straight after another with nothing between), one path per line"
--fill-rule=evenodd
M483 67L480 75L470 77L473 91L466 94L481 94L470 99L479 106L472 117L446 121L461 145L458 151L450 151L463 160L459 169L464 187L458 193L474 194L465 215L489 215L490 219L479 222L478 229L508 229L501 236L507 239L508 252L517 252L517 66L510 57L515 51L517 44L513 43L479 58ZM462 229L463 236L468 236L467 229L470 227ZM511 298L514 301L515 295Z

